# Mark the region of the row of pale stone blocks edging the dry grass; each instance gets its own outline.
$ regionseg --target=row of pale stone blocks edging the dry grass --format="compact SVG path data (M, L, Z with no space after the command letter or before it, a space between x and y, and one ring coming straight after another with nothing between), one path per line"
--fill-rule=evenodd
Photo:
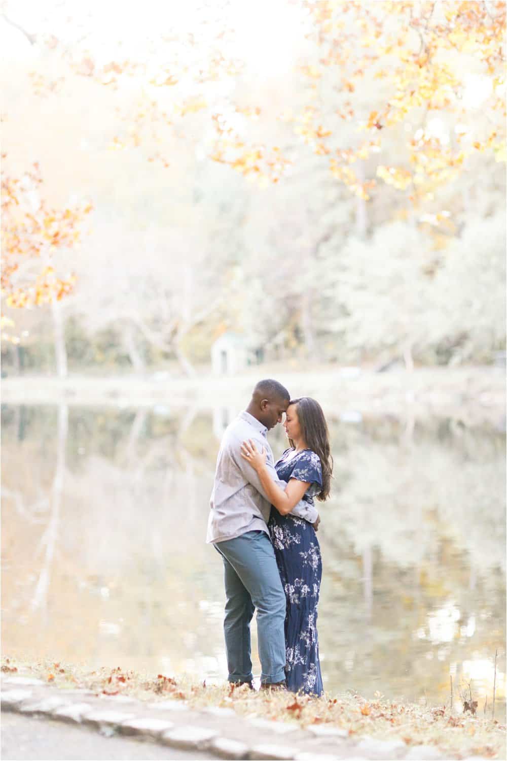
M326 725L303 730L297 724L243 718L232 708L192 709L184 702L148 703L128 696L97 696L86 689L59 689L27 677L2 679L2 712L46 717L106 734L135 737L222 759L444 759L434 747L408 747L401 740L373 737L351 740L347 732ZM172 756L173 758L176 756ZM483 761L478 756L464 761ZM484 759L485 761L485 759Z

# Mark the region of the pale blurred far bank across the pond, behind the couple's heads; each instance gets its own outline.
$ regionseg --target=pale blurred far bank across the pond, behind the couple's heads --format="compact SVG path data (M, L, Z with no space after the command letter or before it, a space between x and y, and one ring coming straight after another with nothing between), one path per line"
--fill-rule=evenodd
M255 368L236 377L201 374L168 377L17 376L2 379L2 403L11 405L132 406L163 405L167 412L182 407L196 410L242 409L259 374L274 368ZM259 372L261 371L261 372ZM503 368L418 368L413 373L385 373L340 368L320 373L274 371L293 395L315 396L329 415L395 415L417 419L445 416L464 425L490 422L505 431L505 371Z

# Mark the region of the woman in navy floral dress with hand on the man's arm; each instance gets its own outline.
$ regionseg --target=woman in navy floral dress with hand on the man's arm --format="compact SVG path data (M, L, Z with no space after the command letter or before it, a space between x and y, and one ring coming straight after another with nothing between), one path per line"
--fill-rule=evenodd
M287 597L285 646L287 687L310 695L322 695L322 674L318 660L317 606L322 578L320 546L312 524L290 514L294 500L329 496L333 458L328 426L321 406L303 396L287 407L284 428L290 448L275 467L285 491L271 480L265 467L265 451L252 440L242 444L242 457L258 473L271 504L269 531L280 578Z

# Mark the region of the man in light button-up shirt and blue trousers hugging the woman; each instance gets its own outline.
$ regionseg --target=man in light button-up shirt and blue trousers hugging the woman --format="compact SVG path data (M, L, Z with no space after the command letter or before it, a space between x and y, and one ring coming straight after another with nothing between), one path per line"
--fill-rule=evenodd
M277 478L266 431L281 422L290 396L276 380L260 380L252 400L223 434L217 457L211 513L206 541L223 558L226 592L223 630L229 681L252 687L250 622L257 609L258 654L261 689L285 683L285 593L268 533L271 505L257 473L241 457L240 447L253 439L267 451L267 464ZM320 518L312 505L299 501L292 511L318 527Z

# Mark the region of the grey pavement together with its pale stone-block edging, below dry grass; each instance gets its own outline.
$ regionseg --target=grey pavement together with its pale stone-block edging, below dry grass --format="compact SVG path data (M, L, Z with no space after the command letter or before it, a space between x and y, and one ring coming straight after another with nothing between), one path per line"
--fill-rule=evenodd
M58 689L20 676L2 678L2 724L5 761L444 759L435 747L407 747L402 740L366 735L352 739L346 730L332 725L302 729L293 722L242 717L232 708L190 708L176 699L150 703L129 696L103 696L87 689ZM474 761L485 759L474 757Z

